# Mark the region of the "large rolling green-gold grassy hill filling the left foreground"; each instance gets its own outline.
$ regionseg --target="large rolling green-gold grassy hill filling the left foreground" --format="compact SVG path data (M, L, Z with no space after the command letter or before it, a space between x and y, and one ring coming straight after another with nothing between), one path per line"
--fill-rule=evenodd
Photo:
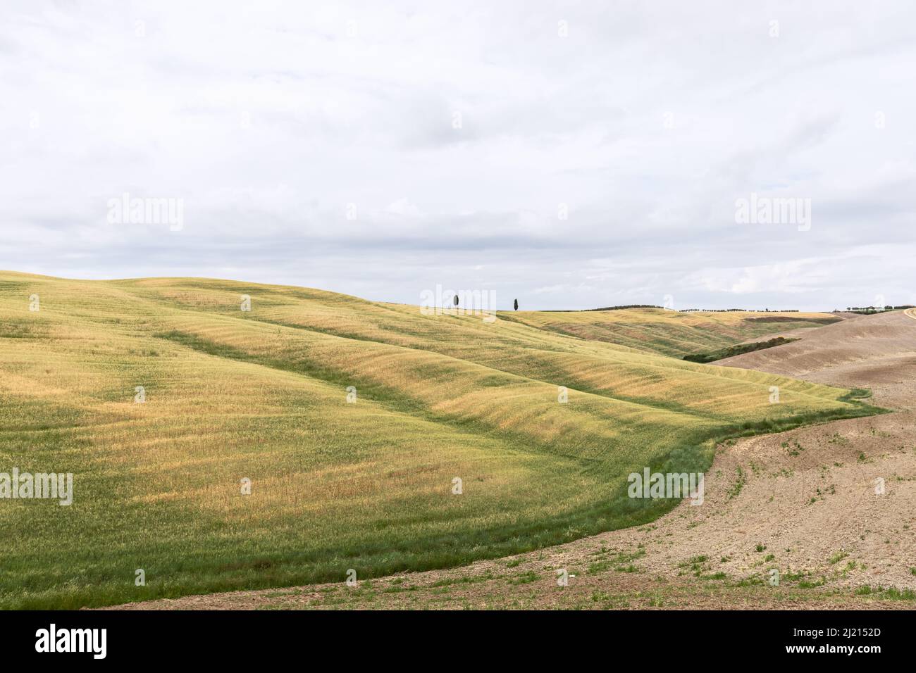
M675 504L628 499L629 472L702 470L716 439L873 412L845 390L607 342L603 316L583 319L599 341L574 338L556 315L488 324L307 288L0 272L0 472L74 474L70 506L0 500L0 607L516 553ZM758 329L713 316L673 341L685 325L711 343Z

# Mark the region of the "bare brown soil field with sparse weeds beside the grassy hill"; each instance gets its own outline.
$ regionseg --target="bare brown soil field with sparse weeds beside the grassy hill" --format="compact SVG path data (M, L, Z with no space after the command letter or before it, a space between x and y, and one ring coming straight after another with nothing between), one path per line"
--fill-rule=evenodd
M703 505L684 501L648 526L355 586L341 581L116 607L916 606L916 319L901 311L856 316L717 364L871 388L874 404L893 412L725 442L706 473Z

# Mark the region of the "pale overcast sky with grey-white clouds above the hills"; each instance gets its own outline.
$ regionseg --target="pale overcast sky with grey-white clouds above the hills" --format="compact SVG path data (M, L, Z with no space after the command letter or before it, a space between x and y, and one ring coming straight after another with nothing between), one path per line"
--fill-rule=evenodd
M6 270L916 304L911 1L3 0L0 147Z

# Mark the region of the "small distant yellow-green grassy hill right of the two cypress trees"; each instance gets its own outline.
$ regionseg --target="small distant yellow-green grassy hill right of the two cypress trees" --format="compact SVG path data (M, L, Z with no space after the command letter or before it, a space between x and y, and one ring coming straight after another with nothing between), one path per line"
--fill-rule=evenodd
M841 320L831 313L665 309L518 311L507 320L582 339L611 342L639 351L682 357L720 351L776 331L821 327Z

